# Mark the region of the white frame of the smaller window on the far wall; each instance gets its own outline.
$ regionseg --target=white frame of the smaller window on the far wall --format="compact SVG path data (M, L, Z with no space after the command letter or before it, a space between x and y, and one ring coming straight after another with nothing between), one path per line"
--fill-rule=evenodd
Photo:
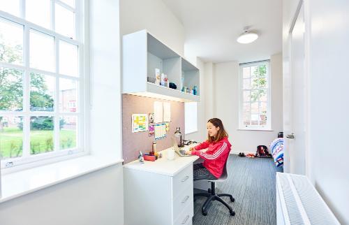
M265 125L244 125L244 90L243 89L243 69L251 66L260 66L265 64L267 66L267 124ZM238 121L238 129L239 130L253 130L253 131L272 131L272 78L270 73L270 60L262 60L262 61L253 61L244 64L239 64L239 82L238 82L238 96L239 96L239 121ZM251 74L250 74L251 75ZM250 90L253 90L252 88ZM249 101L251 103L252 101ZM257 101L259 102L259 101ZM250 112L251 115L251 112Z

